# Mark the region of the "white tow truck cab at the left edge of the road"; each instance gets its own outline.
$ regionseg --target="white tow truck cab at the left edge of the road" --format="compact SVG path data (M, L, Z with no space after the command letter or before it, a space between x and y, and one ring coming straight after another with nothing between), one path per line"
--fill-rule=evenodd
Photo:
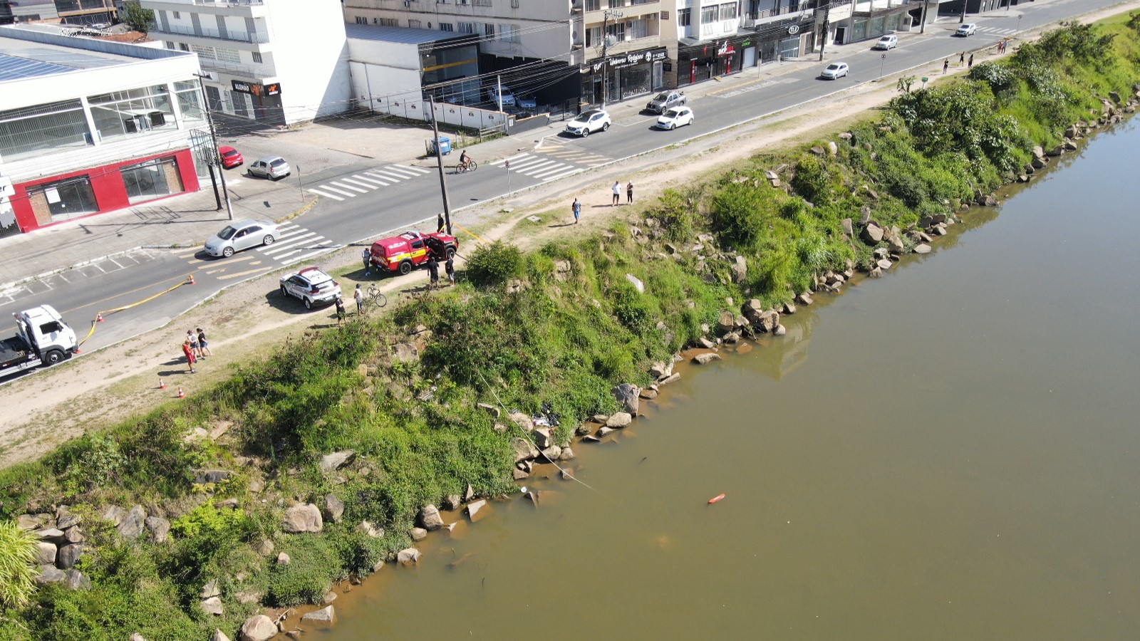
M0 339L0 378L41 365L49 367L71 358L79 349L75 332L50 305L13 316L16 335Z

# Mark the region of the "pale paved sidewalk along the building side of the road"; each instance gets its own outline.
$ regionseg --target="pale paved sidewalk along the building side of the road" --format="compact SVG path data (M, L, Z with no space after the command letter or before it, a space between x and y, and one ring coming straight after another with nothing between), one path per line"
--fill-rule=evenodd
M948 22L943 19L940 22ZM927 33L930 26L927 23ZM917 32L904 38L919 36ZM863 50L868 42L829 46L824 60ZM759 68L748 68L730 76L722 76L699 84L684 87L690 98L699 98L736 87L746 87L780 78L805 65L820 65L819 55L783 62L766 63ZM630 122L648 117L641 113L646 96L606 105L613 121ZM434 159L425 159L424 140L431 137L430 127L397 127L372 119L345 117L333 123L314 123L294 130L245 129L237 136L226 123L220 127L220 144L239 140L246 162L260 155L278 153L290 160L295 169L315 173L342 167L361 159L384 163L435 167ZM471 154L482 163L534 149L543 138L557 136L565 128L563 121L471 146ZM237 129L241 130L241 129ZM238 146L238 145L235 145ZM446 161L445 161L446 162ZM290 179L279 184L245 177L242 170L226 173L230 185L230 204L234 220L243 218L280 220L312 206L314 196L304 197ZM288 184L286 184L288 182ZM169 248L201 245L227 224L225 209L217 211L213 189L209 180L201 190L181 194L139 206L63 222L28 234L0 238L0 291L19 283L52 273L121 254L138 248Z

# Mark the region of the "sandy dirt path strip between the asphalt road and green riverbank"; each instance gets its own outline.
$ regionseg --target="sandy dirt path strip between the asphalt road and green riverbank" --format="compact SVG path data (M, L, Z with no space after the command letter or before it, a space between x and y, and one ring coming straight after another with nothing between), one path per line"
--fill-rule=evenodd
M1135 2L1117 6L1100 17L1133 9ZM992 55L986 51L983 57ZM940 68L912 70L914 75L929 75L938 82ZM940 65L937 65L940 67ZM562 235L583 235L608 227L617 218L642 211L666 188L692 182L694 179L724 171L754 154L775 146L809 140L839 131L845 123L873 117L873 109L896 95L894 78L868 83L842 94L780 112L759 121L712 133L684 145L645 154L621 163L598 168L583 175L515 194L464 210L457 221L482 240L508 240L522 246L535 246ZM635 185L637 203L633 206L610 206L613 180ZM583 202L579 225L570 213L575 197ZM622 194L622 200L625 195ZM549 212L554 212L552 217ZM535 224L528 217L544 214ZM564 213L564 219L561 216ZM459 235L463 235L461 232ZM471 246L471 241L466 242ZM359 263L359 249L345 248L321 258L326 270L351 269ZM462 260L459 261L462 277ZM277 289L279 274L268 274L229 287L172 324L108 347L93 354L13 381L2 388L0 404L0 465L34 460L54 446L85 430L122 421L177 399L179 388L187 395L207 388L226 378L239 363L268 354L290 334L311 328L335 326L335 313L324 308L298 314L302 309L294 300L283 300L267 292ZM356 285L349 276L337 276L351 308L351 291ZM386 309L400 298L421 290L426 273L407 277L370 281L389 297ZM189 374L182 363L181 341L186 330L204 327L210 336L213 356ZM166 383L158 389L160 378ZM190 400L182 400L187 403Z

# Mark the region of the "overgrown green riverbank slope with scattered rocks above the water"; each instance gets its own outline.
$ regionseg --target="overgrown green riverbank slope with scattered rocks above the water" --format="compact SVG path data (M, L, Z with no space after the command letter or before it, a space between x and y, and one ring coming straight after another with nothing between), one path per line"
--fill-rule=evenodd
M1080 36L1070 41L1081 50L1089 43L1082 33L1070 34ZM1050 50L1060 46L1050 44ZM1099 84L1080 72L1065 68L1101 96L1130 94L1131 79ZM923 115L931 105L961 100L993 113L1000 100L991 91L986 103L980 89L972 94L982 94L980 103L969 102L969 92L946 91L904 97L894 109ZM1081 98L1072 108L1086 119L1085 109L1097 103L1091 91ZM589 240L532 254L499 245L469 265L475 286L405 306L391 319L308 335L264 363L244 366L190 406L85 437L16 470L6 478L6 509L72 505L82 525L58 527L68 516L57 511L51 518L60 534L52 537L83 528L79 535L88 539L78 544L90 547L68 554L87 550L79 567L92 582L87 592L43 590L24 616L38 632L58 639L136 630L160 639L203 638L193 634L221 622L235 630L255 607L242 601L258 591L258 600L271 605L320 600L329 578L320 570L367 573L418 536L412 526L421 506L462 498L469 486L472 498L513 487L521 445L510 438L522 437L504 407L532 415L549 403L549 412L563 417L553 435L561 446L578 419L619 409L614 384L649 388L646 365L665 364L701 339L715 341L718 324L777 330L777 307L787 313L785 306L807 302L796 300L807 290L834 289L849 269L882 269L880 261L894 262L890 254L925 243L918 234L933 235L953 220L963 201L985 201L996 182L1016 179L1010 170L1033 164L1033 145L1025 143L1043 149L1061 144L1059 133L1075 120L1064 109L1045 113L1068 120L1043 127L1049 136L1041 138L1003 128L996 114L919 132L888 114L885 123L841 132L849 137L758 159L714 185L667 194L648 216ZM959 148L946 143L945 131L983 144ZM988 133L1020 136L1002 146ZM787 167L780 170L781 164ZM865 221L856 216L863 208ZM757 305L738 307L752 299ZM198 438L187 443L188 433ZM326 459L348 448L352 455ZM296 500L324 512L320 534L278 534L316 528L310 508L282 522L282 512ZM135 517L100 518L108 504L127 508L136 501ZM426 516L435 522L430 511ZM108 526L115 517L119 525ZM163 520L173 529L171 543L119 543L130 534L141 542L145 532L163 538ZM377 525L361 532L365 520ZM381 534L380 524L385 532L373 536ZM268 541L274 546L266 553ZM267 562L283 550L288 563ZM211 579L218 581L218 597L204 595L212 592L203 592ZM215 598L223 614L203 614L202 601Z

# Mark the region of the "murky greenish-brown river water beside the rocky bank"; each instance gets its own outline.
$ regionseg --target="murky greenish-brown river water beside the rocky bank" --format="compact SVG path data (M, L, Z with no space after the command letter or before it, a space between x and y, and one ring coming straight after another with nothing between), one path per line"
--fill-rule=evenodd
M686 370L577 448L593 489L532 480L314 636L1137 639L1138 147Z

